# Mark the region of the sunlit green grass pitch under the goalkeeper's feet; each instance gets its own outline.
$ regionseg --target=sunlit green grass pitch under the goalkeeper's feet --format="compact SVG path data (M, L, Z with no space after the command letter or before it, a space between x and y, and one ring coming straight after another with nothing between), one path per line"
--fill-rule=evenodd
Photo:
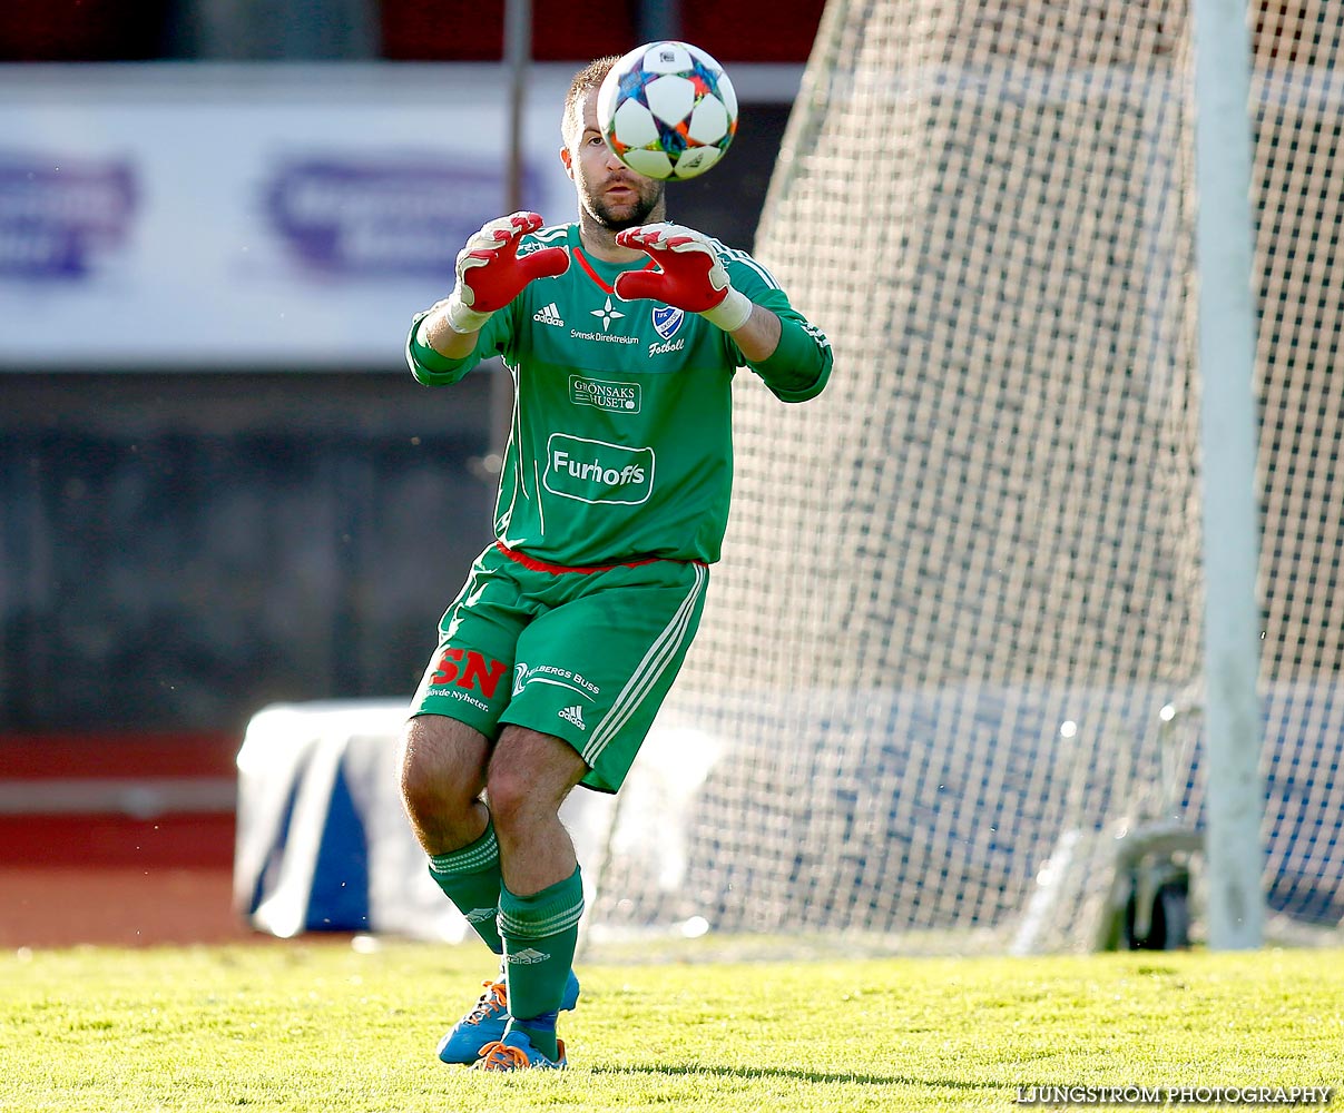
M1337 951L587 963L570 1070L445 1067L434 1042L489 972L415 944L0 955L0 1108L887 1113L1344 1081Z

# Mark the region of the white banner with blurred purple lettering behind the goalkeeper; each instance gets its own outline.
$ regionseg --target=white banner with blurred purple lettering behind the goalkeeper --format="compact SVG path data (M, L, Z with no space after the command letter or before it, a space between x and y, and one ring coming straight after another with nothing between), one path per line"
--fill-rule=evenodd
M523 114L547 222L566 82ZM508 117L495 66L0 67L0 369L401 369L507 212Z

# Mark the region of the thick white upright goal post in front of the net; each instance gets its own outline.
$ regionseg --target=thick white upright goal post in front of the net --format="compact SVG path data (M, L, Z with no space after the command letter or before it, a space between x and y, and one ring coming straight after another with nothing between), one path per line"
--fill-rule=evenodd
M1193 0L1195 184L1204 497L1208 941L1259 947L1259 710L1251 48L1246 0Z

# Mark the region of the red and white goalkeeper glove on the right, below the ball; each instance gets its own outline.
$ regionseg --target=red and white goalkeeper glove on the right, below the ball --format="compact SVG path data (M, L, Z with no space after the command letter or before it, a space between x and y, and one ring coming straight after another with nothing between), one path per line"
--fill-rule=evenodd
M616 293L626 301L650 298L699 313L724 332L737 332L751 316L753 302L732 289L719 252L708 238L680 224L645 224L618 232L616 242L648 252L660 270L626 271Z

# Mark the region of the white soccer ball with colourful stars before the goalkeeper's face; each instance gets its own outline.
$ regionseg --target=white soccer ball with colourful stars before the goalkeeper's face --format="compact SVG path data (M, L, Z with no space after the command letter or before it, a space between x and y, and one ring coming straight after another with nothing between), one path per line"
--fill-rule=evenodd
M606 145L636 173L657 179L703 175L738 130L738 95L723 67L689 43L636 47L612 67L597 93Z

